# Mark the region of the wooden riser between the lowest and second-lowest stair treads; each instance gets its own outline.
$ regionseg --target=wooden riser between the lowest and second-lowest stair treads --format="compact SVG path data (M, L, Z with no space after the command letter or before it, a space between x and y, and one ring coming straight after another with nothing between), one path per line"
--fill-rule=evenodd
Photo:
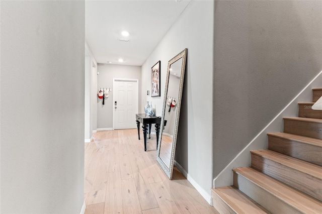
M235 172L233 173L233 185L272 213L302 213Z

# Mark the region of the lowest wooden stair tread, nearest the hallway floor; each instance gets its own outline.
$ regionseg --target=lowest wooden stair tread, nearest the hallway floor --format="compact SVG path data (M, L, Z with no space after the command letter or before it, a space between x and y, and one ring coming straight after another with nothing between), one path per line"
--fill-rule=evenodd
M234 186L211 189L236 213L270 213Z

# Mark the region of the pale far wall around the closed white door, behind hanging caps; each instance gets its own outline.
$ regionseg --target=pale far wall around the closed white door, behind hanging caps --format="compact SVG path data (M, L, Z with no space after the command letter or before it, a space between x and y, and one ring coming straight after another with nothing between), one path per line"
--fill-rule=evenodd
M98 64L98 71L99 75L97 76L97 91L103 87L112 89L113 78L139 79L139 100L141 99L141 66ZM105 98L104 105L102 104L103 100L98 98L97 95L96 100L98 130L113 128L113 91L109 93L108 98ZM140 102L139 109L141 109Z

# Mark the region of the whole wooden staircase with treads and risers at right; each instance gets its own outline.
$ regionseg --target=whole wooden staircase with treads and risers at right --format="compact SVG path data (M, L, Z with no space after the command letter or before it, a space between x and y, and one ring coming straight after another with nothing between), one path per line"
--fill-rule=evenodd
M298 103L299 117L283 118L268 149L251 151L251 167L233 169L233 186L212 189L220 213L322 213L322 111Z

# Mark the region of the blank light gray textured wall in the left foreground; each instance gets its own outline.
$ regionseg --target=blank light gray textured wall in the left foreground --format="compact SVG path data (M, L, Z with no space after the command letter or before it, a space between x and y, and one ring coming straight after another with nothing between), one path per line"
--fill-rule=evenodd
M1 1L1 213L81 212L84 28L84 1Z

